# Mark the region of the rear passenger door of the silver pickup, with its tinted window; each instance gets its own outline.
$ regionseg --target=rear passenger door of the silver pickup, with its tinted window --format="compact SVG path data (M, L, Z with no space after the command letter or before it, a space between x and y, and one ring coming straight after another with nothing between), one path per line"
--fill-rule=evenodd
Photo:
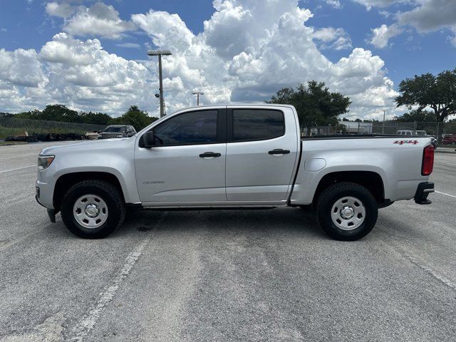
M297 127L291 108L228 107L228 201L286 201L299 152Z

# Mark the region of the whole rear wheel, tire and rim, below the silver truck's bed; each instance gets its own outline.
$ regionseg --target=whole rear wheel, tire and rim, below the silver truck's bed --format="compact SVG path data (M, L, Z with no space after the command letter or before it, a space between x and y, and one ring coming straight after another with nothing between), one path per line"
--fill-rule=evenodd
M366 187L340 182L318 196L316 220L333 239L355 241L365 237L377 222L375 198Z

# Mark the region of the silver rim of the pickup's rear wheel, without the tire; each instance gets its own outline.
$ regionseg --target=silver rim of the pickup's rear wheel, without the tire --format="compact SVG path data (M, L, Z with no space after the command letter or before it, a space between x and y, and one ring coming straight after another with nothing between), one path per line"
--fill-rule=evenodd
M343 230L353 230L363 224L366 219L366 208L356 197L342 197L334 203L331 209L331 219L336 227Z

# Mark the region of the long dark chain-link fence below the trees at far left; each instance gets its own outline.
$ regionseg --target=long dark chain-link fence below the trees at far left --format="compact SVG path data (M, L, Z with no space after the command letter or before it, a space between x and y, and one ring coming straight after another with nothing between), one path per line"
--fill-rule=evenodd
M0 118L0 126L24 130L28 133L86 133L101 131L105 125L92 125L90 123L63 123L60 121L30 120L19 118Z

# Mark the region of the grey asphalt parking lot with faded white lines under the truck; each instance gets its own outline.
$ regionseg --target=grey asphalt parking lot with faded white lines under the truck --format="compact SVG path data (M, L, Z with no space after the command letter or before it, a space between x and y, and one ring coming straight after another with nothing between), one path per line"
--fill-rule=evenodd
M84 240L33 197L48 145L0 147L0 341L455 341L456 153L431 205L358 242L295 208L135 211Z

